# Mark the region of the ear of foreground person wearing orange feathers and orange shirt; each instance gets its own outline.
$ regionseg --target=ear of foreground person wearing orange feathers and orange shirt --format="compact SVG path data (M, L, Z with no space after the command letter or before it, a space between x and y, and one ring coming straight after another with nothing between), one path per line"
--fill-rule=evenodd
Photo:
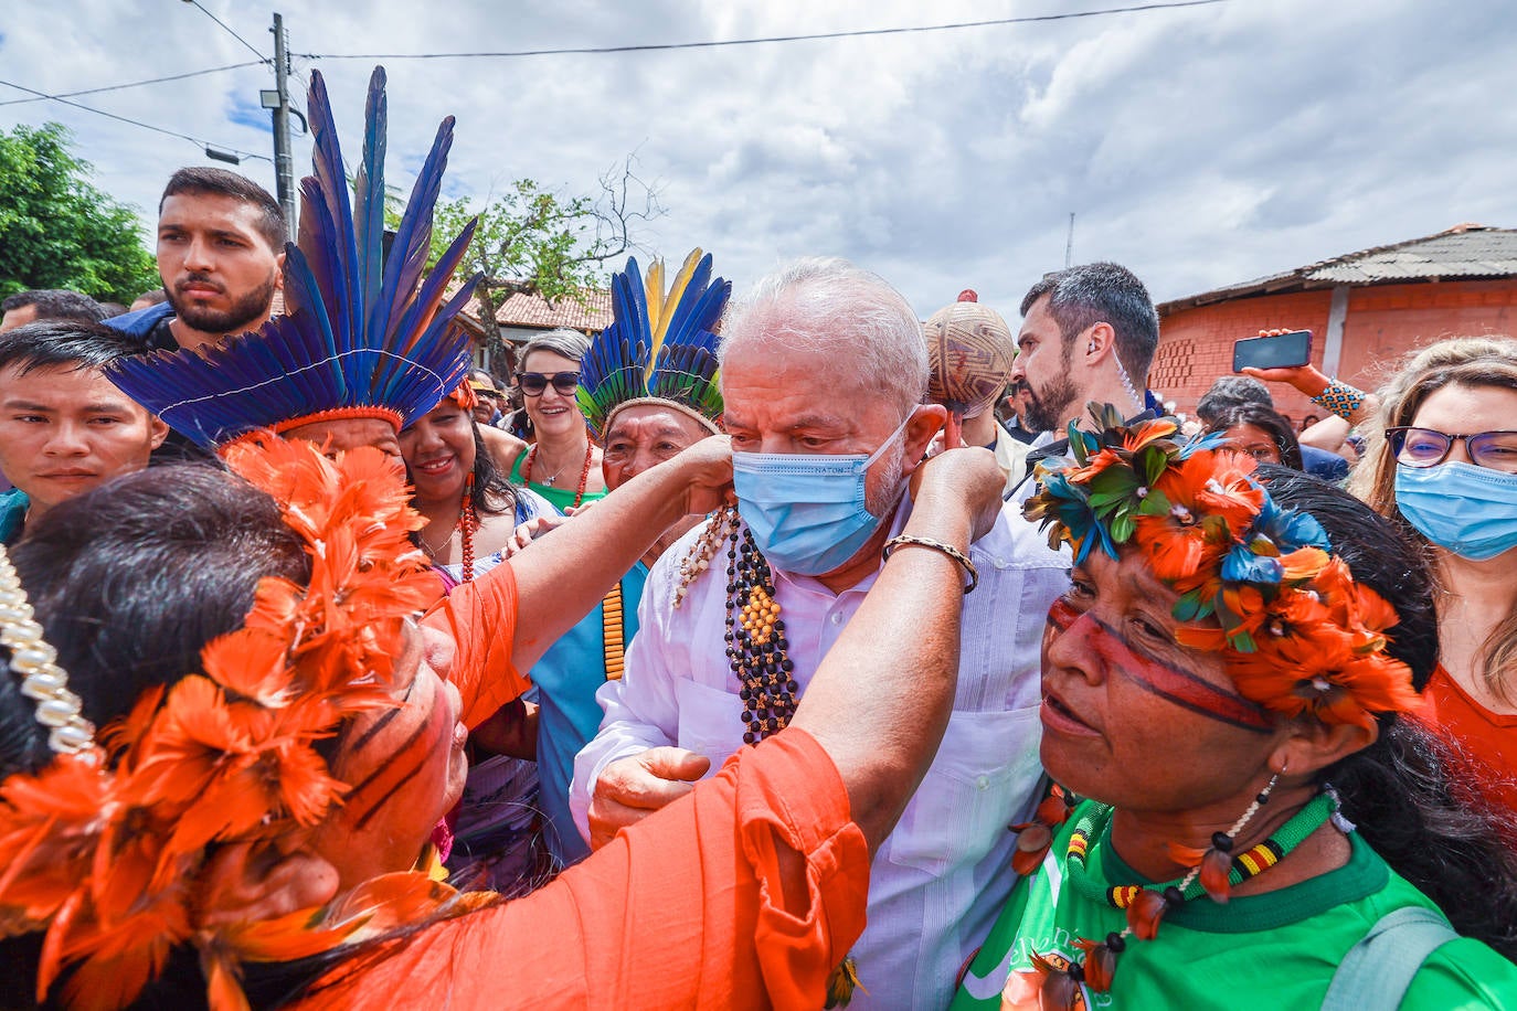
M200 873L199 926L256 923L337 897L337 869L309 850L281 853L267 843L217 849Z

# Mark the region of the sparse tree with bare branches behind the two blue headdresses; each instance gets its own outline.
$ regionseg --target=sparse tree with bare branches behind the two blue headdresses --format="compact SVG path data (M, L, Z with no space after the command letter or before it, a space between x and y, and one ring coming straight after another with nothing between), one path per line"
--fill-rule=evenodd
M519 179L505 196L476 202L441 202L432 224L432 259L479 218L475 239L458 271L479 273L479 324L492 349L504 349L496 311L513 294L537 294L549 305L586 300L605 282L601 264L636 246L636 227L663 214L657 191L633 171L633 158L601 177L601 196L561 197L531 179Z

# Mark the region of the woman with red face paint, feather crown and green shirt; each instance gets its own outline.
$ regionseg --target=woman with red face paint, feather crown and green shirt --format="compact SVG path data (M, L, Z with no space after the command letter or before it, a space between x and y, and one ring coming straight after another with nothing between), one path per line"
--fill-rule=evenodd
M1059 785L953 1006L1512 1006L1517 861L1399 718L1435 655L1415 555L1223 435L1098 421L1029 503L1076 556Z

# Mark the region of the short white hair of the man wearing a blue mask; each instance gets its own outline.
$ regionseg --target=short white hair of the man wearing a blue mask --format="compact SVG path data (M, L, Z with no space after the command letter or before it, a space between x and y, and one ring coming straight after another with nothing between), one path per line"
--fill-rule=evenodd
M898 403L901 417L927 396L921 320L883 277L845 259L792 261L731 302L722 318L722 364L749 341L781 352L830 352L846 377Z

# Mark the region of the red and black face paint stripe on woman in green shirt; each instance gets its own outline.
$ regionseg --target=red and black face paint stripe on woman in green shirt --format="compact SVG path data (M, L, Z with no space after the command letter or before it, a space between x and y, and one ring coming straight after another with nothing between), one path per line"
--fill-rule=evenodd
M1085 629L1083 641L1106 671L1118 671L1150 694L1229 726L1259 734L1274 731L1274 720L1264 706L1161 659L1095 615L1076 611L1062 597L1048 609L1048 635L1066 635L1082 618L1092 626Z

